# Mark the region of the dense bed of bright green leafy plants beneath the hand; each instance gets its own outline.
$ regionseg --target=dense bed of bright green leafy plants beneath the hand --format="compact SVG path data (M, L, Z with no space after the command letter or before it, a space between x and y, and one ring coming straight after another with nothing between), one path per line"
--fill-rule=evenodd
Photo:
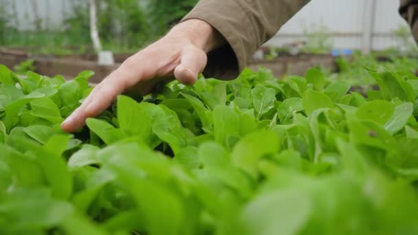
M0 67L0 234L417 234L418 78L171 82L74 135L89 88Z

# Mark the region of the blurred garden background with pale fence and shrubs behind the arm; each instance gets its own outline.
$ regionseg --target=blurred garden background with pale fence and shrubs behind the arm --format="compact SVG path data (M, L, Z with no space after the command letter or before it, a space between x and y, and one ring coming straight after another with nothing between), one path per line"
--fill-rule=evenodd
M91 38L92 3L96 8L96 44ZM47 75L72 76L74 71L91 69L96 77L105 76L162 36L196 3L0 0L0 63ZM334 71L338 69L336 56L416 58L417 45L398 8L398 0L312 0L254 54L250 67L264 66L280 77L303 74L312 66ZM111 52L111 58L98 63L97 54L102 51ZM72 63L64 63L65 59Z

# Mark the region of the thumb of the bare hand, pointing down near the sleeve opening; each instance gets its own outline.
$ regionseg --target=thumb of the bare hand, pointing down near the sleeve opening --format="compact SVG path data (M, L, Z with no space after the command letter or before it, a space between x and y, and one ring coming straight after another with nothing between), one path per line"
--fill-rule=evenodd
M180 65L174 69L174 76L181 84L192 85L206 67L206 63L208 63L206 53L195 45L188 45L181 52Z

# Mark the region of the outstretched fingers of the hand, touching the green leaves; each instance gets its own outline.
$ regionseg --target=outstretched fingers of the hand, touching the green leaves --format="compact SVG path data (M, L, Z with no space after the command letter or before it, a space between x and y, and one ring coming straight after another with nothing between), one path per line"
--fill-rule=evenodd
M61 124L63 131L74 132L85 125L88 117L99 115L107 109L120 93L126 88L127 77L120 77L118 71L114 71L100 85L95 87L83 104L78 107Z

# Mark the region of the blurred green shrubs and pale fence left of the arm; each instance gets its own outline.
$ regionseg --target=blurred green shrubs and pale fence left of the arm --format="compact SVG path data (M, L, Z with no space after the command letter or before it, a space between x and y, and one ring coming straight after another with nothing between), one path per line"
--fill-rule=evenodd
M195 0L96 0L103 49L135 52L164 34ZM89 1L0 0L0 44L36 53L91 52Z

